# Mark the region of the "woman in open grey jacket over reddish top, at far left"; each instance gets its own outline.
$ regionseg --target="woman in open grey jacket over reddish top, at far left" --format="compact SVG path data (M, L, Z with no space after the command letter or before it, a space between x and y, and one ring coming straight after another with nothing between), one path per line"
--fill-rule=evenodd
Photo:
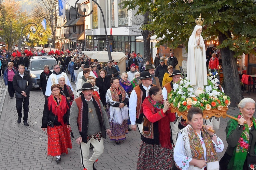
M16 69L14 69L12 67L12 64L9 63L7 66L7 69L4 71L4 74L3 74L4 85L8 86L8 93L11 99L14 97L14 92L15 92L12 86L12 81L16 73L17 73Z

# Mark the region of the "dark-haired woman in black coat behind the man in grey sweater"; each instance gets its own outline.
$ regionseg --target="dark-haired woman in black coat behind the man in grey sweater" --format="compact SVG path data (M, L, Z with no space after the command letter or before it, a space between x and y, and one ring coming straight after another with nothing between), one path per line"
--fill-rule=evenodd
M109 90L111 83L110 78L106 76L105 69L100 70L100 77L96 78L96 86L99 87L100 90L100 100L103 104L103 106L106 106L106 91Z

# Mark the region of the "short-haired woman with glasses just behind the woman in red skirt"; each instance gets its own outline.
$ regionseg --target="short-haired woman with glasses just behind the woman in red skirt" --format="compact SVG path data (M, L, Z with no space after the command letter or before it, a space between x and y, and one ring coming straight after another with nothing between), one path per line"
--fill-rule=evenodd
M72 102L74 101L75 97L74 97L74 93L71 90L70 86L66 84L65 82L65 77L60 76L58 79L59 82L59 86L60 86L60 94L67 97L70 106L72 105Z

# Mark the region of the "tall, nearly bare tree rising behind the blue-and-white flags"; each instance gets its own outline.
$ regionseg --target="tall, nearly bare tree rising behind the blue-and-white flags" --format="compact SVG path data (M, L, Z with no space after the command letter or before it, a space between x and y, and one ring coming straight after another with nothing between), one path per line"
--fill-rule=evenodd
M45 18L46 26L51 29L53 41L52 48L55 48L55 35L57 28L58 0L38 0L33 6L32 15L41 21Z

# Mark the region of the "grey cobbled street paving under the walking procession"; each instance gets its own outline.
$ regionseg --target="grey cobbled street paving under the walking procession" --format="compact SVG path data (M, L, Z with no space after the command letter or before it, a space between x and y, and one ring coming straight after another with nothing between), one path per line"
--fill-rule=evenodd
M73 89L74 84L73 84ZM0 77L0 169L71 169L81 170L80 148L72 138L73 149L68 155L61 156L61 163L55 163L52 156L47 156L47 136L41 129L44 96L40 90L30 92L29 103L29 126L23 123L17 124L17 112L15 98L10 99L7 86L4 86L3 78ZM6 95L5 95L6 94ZM251 93L251 97L254 97ZM236 115L237 108L230 108L228 114ZM221 119L220 129L216 132L218 137L224 141L226 134L224 129L229 118ZM134 170L136 169L140 137L138 132L129 132L126 140L121 145L116 145L108 138L104 142L104 153L96 163L97 170ZM219 159L224 155L219 153ZM92 150L91 150L92 151Z

